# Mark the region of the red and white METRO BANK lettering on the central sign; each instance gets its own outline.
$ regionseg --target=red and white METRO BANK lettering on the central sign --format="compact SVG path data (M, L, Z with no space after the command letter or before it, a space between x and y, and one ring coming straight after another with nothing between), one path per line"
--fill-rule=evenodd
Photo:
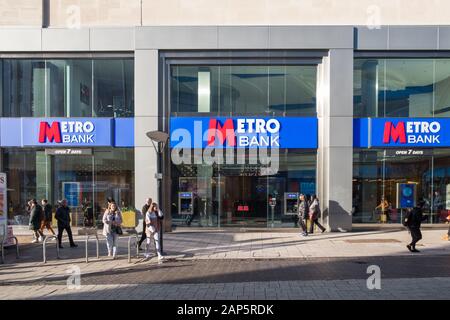
M279 147L280 122L277 119L209 119L207 146Z

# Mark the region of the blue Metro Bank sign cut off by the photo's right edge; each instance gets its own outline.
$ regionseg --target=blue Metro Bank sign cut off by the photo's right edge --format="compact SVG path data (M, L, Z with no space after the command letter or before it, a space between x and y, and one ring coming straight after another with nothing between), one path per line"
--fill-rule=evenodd
M369 119L371 147L445 147L450 145L448 118Z

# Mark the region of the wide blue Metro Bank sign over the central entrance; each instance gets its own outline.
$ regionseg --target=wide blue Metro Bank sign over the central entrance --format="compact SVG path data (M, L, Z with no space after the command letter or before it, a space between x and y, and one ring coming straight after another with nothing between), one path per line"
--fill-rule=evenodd
M316 118L180 117L170 120L172 148L317 148Z

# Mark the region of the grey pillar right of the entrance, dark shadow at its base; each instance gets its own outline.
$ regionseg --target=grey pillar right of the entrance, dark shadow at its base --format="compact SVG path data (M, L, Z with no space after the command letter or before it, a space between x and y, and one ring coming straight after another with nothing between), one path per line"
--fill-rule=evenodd
M331 49L318 67L318 196L331 231L352 227L353 49Z

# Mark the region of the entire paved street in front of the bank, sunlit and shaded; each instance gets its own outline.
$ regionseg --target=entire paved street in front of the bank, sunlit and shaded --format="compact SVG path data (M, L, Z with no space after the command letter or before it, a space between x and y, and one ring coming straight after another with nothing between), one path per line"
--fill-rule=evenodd
M96 259L95 246L90 243L89 263L84 261L84 237L76 237L78 248L66 246L61 250L59 260L54 244L50 244L46 264L42 263L42 245L24 243L19 260L10 249L7 264L0 265L0 299L85 295L99 299L116 295L127 299L135 295L161 299L305 299L308 294L340 299L400 298L407 294L412 299L436 299L450 289L450 242L442 240L445 233L424 230L424 240L418 247L422 252L412 254L405 248L409 241L406 231L325 233L303 238L297 232L178 230L164 235L167 260L162 264L155 258L144 260L142 255L128 263L126 237L120 240L117 260L106 257L104 240L100 243L101 257ZM381 291L366 288L366 270L371 264L382 268ZM78 271L81 291L69 290L67 279ZM409 289L410 283L414 288L422 287L415 291ZM272 285L274 290L267 287ZM224 291L222 286L232 289ZM242 286L248 288L244 293Z

